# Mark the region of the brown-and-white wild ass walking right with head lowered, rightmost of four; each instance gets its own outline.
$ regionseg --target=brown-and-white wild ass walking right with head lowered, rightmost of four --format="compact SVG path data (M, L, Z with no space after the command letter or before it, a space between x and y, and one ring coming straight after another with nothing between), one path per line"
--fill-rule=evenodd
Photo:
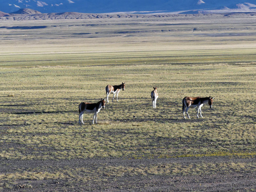
M198 116L199 110L200 110L200 116L203 117L201 107L205 103L208 103L210 108L212 108L212 100L214 98L215 97L211 97L211 96L210 97L204 97L204 98L201 98L201 97L184 97L184 99L182 100L182 113L184 115L184 118L186 119L185 111L188 115L188 109L189 108L197 108L197 115L196 115L197 118L199 118L199 116ZM188 118L190 119L189 115L188 115Z

